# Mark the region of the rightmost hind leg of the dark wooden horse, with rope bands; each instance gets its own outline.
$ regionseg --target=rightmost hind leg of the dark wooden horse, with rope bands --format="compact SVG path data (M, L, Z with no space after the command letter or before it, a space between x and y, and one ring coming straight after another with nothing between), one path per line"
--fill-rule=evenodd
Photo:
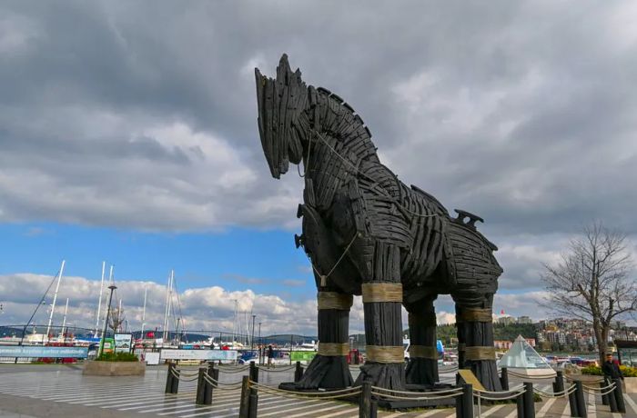
M501 391L493 346L493 294L455 293L460 368L470 368L488 391Z

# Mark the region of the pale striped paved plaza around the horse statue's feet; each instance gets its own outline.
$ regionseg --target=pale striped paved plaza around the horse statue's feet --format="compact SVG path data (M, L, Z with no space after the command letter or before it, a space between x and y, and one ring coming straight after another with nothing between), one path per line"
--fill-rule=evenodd
M182 370L195 370L184 367ZM78 365L0 365L0 417L237 417L239 390L219 391L213 395L212 405L195 405L196 382L180 382L179 393L165 394L166 367L148 367L145 376L98 377L82 375ZM221 373L222 383L234 383L245 373ZM446 373L441 380L451 382L453 373ZM291 372L268 373L262 369L260 383L278 385L292 380ZM512 382L512 384L517 384ZM550 382L539 383L541 390L550 391ZM626 396L628 413L610 413L602 405L599 396L588 395L588 412L591 418L637 418L637 394ZM544 399L536 403L536 416L570 416L568 402L564 399ZM290 399L275 394L261 393L258 402L259 417L355 417L357 405L338 401L316 399ZM481 416L513 418L517 416L514 404L480 408ZM389 417L452 417L450 409L420 410L409 413L379 412ZM476 416L478 410L476 407Z

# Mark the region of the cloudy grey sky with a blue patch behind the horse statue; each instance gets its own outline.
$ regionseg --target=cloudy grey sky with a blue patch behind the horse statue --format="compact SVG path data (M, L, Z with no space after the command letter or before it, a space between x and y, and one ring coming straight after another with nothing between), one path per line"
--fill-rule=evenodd
M256 124L253 69L283 52L405 183L485 218L498 312L547 315L541 263L582 224L637 253L634 2L6 1L0 323L28 319L63 259L69 321L94 323L106 260L134 327L145 287L162 323L175 269L192 329L231 329L238 300L264 332L314 333L302 181L269 176Z

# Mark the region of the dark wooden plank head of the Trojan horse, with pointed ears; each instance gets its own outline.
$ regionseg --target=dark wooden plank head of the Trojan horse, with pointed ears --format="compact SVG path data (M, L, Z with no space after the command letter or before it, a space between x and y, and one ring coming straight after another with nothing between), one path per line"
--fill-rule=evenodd
M299 164L303 158L303 142L308 134L308 86L298 69L292 72L285 54L278 63L277 78L261 75L258 68L255 76L258 133L270 173L279 178L288 172L290 162Z

